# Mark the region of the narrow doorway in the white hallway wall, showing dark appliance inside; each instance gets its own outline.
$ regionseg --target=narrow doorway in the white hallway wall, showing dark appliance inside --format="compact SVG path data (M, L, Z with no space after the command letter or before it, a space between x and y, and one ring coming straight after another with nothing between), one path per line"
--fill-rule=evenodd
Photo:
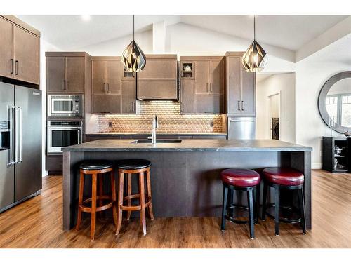
M276 93L273 95L268 96L269 100L269 119L268 127L269 127L269 134L270 138L273 140L279 140L280 134L280 93Z

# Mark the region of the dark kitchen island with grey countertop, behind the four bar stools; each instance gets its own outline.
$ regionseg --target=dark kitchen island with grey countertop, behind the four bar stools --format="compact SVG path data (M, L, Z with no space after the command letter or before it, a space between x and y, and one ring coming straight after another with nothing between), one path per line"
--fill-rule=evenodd
M64 230L71 229L77 217L79 163L88 159L134 158L152 162L152 206L156 217L220 216L220 171L225 168L295 168L305 175L306 226L312 228L310 147L278 140L181 140L156 145L136 140L95 140L62 151ZM108 184L106 180L106 191L110 189ZM87 183L86 192L90 188ZM295 194L285 194L282 193L284 200L295 203ZM236 198L245 205L240 194Z

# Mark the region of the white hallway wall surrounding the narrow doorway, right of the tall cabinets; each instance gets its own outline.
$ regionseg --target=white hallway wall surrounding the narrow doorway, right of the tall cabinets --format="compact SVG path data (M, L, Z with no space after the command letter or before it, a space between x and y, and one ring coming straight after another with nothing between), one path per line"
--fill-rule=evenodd
M270 96L280 93L279 139L295 143L295 74L273 74L256 83L256 137L270 139Z

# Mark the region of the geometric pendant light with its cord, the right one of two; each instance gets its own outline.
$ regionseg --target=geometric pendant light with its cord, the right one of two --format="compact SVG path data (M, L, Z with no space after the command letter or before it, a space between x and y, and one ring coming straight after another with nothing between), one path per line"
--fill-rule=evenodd
M242 65L246 72L260 72L267 63L267 54L265 50L256 41L256 24L255 16L253 16L253 42L246 49L242 57Z

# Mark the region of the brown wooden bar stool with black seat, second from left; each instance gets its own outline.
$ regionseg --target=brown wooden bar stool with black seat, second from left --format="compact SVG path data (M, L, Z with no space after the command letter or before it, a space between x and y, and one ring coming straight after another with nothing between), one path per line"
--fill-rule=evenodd
M143 234L146 235L146 220L145 220L145 208L148 208L151 220L154 220L152 213L152 201L151 201L151 182L150 182L150 166L151 162L144 159L127 159L119 161L119 194L118 194L118 205L117 205L117 231L116 235L119 234L122 224L122 213L123 210L128 211L127 220L131 217L131 211L140 210L140 222L143 226ZM145 173L146 173L146 194L145 194ZM128 193L124 197L124 175L128 174ZM131 193L131 175L139 175L139 192L138 194ZM133 198L139 199L139 205L131 205ZM127 205L124 205L124 201L128 201Z

